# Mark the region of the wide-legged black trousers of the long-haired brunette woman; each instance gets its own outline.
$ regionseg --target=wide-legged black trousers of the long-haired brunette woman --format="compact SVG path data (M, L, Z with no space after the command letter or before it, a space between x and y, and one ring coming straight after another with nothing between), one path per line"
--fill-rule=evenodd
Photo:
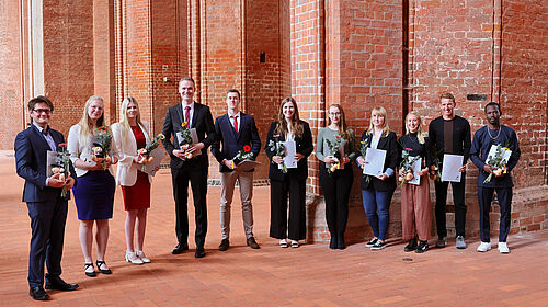
M287 223L287 193L289 193L289 223ZM289 226L287 226L289 224ZM271 179L271 229L276 239L306 238L306 179L288 175L285 181Z

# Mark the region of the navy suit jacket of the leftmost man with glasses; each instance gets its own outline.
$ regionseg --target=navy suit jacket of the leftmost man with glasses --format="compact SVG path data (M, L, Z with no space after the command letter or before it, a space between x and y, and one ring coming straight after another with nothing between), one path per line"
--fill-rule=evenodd
M49 134L58 146L65 143L61 133L49 128ZM46 159L47 150L50 150L46 139L35 125L31 125L15 137L15 163L20 177L25 180L23 190L23 202L52 202L60 197L61 189L44 186L46 183ZM76 181L76 171L69 161L70 177ZM66 200L70 198L67 193Z

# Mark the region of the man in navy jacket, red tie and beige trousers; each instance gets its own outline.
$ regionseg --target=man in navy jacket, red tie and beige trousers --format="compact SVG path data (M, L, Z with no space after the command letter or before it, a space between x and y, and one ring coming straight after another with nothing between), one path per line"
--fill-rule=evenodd
M253 116L240 112L240 92L231 89L227 92L228 113L215 120L215 143L212 154L219 161L220 167L220 231L222 240L220 251L226 251L230 246L230 204L235 192L236 180L240 183L240 200L243 217L243 228L249 247L258 249L259 245L253 237L253 171L240 170L238 163L242 159L235 158L239 151L252 152L254 160L261 150L261 139L256 132ZM220 144L222 143L222 150ZM247 149L247 150L246 150Z

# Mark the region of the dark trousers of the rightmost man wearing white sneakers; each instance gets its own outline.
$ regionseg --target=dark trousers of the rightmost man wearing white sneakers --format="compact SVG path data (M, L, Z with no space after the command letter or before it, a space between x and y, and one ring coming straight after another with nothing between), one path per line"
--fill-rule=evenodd
M490 242L489 231L491 224L489 221L489 209L493 201L493 194L496 190L499 206L501 206L501 224L499 232L499 242L505 242L510 232L510 214L512 212L512 187L481 187L478 186L478 203L480 206L480 238L482 242Z

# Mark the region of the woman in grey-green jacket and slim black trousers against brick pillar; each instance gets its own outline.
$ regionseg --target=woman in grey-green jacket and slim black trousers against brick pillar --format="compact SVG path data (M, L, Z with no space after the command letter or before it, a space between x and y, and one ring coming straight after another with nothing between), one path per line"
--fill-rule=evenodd
M326 198L326 220L328 223L331 240L330 249L345 249L344 231L349 220L349 197L354 175L352 159L356 157L354 132L346 126L344 110L340 104L332 104L328 110L327 127L318 132L316 158L320 163L320 185ZM332 155L332 149L339 144L344 148L340 157ZM333 163L340 167L328 171Z

